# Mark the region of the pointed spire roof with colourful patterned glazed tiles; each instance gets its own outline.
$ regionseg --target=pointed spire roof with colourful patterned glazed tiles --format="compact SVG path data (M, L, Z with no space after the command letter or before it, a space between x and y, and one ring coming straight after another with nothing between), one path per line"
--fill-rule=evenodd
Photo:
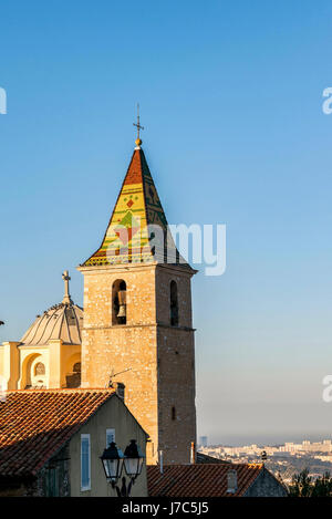
M100 249L84 267L127 262L184 262L175 247L143 149L135 148ZM165 241L164 241L165 240Z

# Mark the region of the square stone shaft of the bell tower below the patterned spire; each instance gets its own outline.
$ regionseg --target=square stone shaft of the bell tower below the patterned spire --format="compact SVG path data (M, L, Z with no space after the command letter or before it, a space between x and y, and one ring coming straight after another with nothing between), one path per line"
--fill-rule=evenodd
M125 384L125 403L149 434L147 463L189 463L196 439L190 273L156 264L84 267L82 386ZM112 286L126 282L127 322L112 325ZM169 283L178 286L179 325L170 326ZM127 371L126 371L127 370ZM175 417L173 413L175 407Z

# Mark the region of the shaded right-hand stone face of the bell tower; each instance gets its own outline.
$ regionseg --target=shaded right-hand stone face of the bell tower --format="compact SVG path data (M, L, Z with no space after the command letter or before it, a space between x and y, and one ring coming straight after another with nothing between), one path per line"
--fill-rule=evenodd
M187 464L196 443L195 343L191 273L178 268L156 271L158 344L158 448L167 463ZM170 282L177 284L178 326L170 326Z

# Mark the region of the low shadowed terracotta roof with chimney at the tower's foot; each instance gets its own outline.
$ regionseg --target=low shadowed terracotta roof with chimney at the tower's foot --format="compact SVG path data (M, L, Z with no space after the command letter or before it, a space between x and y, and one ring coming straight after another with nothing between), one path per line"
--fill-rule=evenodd
M227 492L228 470L237 471L238 490ZM261 464L166 465L164 474L157 465L147 466L151 497L241 497L259 476Z

